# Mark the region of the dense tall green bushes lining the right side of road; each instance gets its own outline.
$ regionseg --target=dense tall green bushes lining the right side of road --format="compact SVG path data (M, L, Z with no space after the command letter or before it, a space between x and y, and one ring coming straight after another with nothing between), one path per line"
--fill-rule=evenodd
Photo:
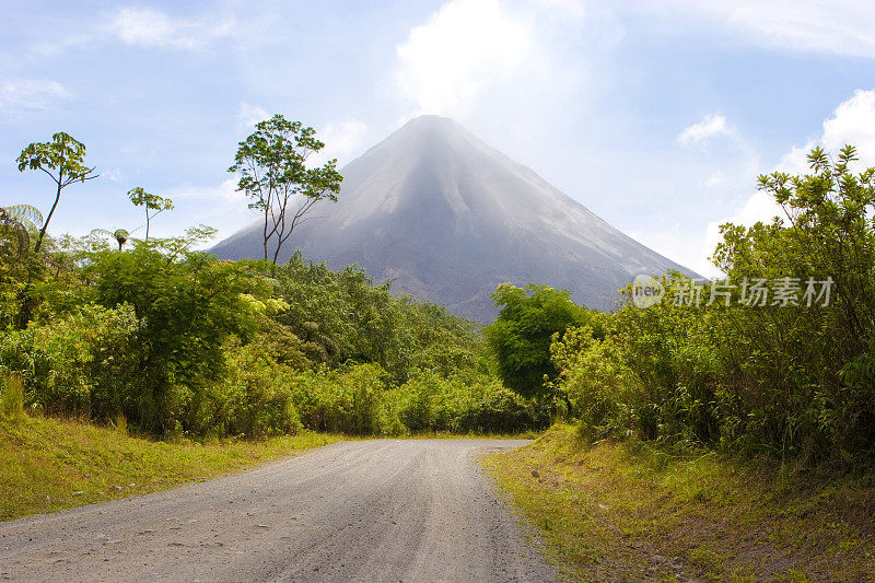
M630 287L616 313L555 337L546 389L568 398L582 434L868 467L875 170L854 174L850 147L808 160L809 175L760 177L783 219L723 225L714 261L727 280L664 277L650 307Z

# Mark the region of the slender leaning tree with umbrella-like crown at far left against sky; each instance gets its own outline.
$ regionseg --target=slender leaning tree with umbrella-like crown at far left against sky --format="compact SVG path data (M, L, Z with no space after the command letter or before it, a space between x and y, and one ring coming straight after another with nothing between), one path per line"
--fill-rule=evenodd
M97 177L97 175L94 174L94 168L86 167L84 161L85 144L62 131L54 135L50 142L32 143L27 145L16 159L19 172L24 172L25 170L40 170L45 172L57 186L55 202L51 205L51 210L48 211L48 217L46 217L43 228L39 230L39 235L34 246L34 253L39 252L39 246L43 244L43 237L48 229L48 223L51 221L51 215L55 214L55 209L58 207L58 201L61 198L61 190L73 183L84 183L85 180Z

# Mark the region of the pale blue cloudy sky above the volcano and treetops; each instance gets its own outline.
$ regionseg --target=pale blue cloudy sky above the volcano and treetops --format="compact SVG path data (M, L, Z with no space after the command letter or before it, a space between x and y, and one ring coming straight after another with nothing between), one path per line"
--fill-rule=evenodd
M816 143L875 165L867 1L5 0L0 23L0 205L48 210L48 178L13 160L56 131L101 174L65 193L55 233L133 230L143 186L176 202L156 234L232 234L253 217L226 168L275 113L341 164L453 117L705 275L716 225L774 213L759 173Z

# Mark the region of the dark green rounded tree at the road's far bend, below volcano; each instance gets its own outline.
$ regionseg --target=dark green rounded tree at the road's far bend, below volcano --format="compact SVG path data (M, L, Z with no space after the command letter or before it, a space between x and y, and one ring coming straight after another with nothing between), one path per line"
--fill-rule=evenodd
M571 301L568 290L529 283L502 283L492 292L499 317L486 329L504 384L524 396L541 393L544 378L558 371L550 359L553 335L590 320L588 310Z

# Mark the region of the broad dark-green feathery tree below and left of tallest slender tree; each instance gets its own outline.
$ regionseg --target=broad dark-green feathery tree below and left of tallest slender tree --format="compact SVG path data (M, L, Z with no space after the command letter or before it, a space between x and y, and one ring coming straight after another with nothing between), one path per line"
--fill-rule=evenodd
M143 390L126 416L151 431L173 430L189 400L222 374L224 341L231 335L245 338L257 325L242 294L266 293L265 283L244 264L185 250L167 256L156 248L180 244L138 243L127 253L100 252L84 270L97 304L133 307L132 353Z

